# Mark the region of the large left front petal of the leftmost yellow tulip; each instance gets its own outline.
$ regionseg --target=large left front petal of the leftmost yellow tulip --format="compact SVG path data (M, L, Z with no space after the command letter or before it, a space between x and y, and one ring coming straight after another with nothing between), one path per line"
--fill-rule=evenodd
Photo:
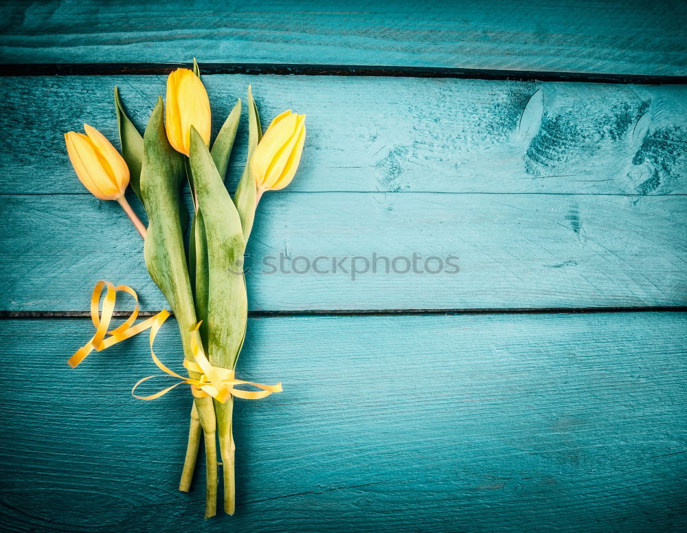
M67 153L76 175L93 196L101 200L116 200L121 196L116 183L102 168L101 159L91 139L70 131L65 135Z

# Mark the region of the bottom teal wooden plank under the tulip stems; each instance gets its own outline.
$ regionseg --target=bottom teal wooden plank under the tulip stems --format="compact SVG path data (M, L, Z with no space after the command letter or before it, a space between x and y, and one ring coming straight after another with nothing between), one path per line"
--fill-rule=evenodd
M12 532L682 532L684 313L269 318L241 377L238 510L177 492L190 396L131 385L139 336L65 360L89 321L0 321ZM182 359L174 324L157 353ZM159 385L163 385L160 383Z

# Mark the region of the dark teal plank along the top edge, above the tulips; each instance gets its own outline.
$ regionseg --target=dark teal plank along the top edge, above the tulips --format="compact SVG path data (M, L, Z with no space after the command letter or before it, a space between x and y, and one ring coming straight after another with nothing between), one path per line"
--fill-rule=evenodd
M398 65L686 75L675 0L10 1L4 63Z

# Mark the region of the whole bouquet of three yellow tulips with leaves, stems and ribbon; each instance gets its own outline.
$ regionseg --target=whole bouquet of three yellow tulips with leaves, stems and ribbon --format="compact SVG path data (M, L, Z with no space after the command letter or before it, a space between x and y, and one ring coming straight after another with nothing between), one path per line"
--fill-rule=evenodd
M223 469L224 510L234 514L234 397L256 399L280 392L281 385L247 383L234 376L247 324L247 294L243 256L253 227L256 207L265 191L289 185L296 172L305 140L305 115L291 111L275 117L262 133L258 107L248 87L248 157L234 195L224 184L229 155L240 122L238 100L210 146L210 100L198 65L177 69L167 80L166 102L158 98L144 135L129 120L115 87L115 109L122 154L95 128L84 125L85 135L65 135L69 159L80 181L98 199L116 200L144 238L144 256L150 277L164 293L181 332L188 377L169 370L153 353L153 340L168 316L135 324L138 306L124 324L108 330L115 293L133 289L100 282L91 299L97 330L69 360L74 367L93 350L150 329L150 352L155 364L187 383L193 395L190 429L179 490L190 490L201 436L205 444L205 517L216 514L218 455ZM192 195L192 218L182 201L185 183ZM144 225L126 201L131 185L148 216ZM100 310L102 289L107 293ZM145 381L148 378L144 378ZM176 386L176 385L174 385ZM172 389L150 396L153 399Z

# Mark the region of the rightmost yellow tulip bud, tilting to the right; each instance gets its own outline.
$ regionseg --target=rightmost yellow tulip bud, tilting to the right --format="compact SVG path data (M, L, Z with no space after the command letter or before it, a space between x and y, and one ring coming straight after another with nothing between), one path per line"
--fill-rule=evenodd
M291 183L305 142L305 115L284 111L275 117L262 136L251 159L258 196L280 190Z

